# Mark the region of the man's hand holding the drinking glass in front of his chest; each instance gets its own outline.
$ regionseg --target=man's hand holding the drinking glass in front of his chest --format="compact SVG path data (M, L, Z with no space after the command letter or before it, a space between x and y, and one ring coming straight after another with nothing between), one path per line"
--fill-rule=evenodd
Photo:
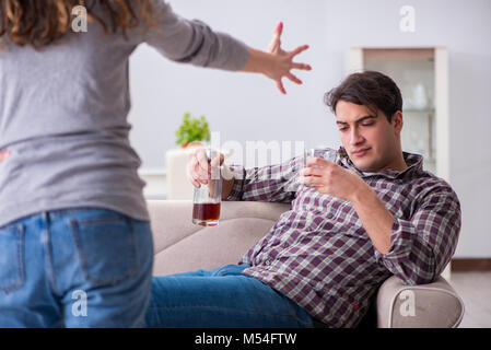
M366 183L350 170L322 158L312 158L301 171L302 183L318 185L317 190L349 201L356 192L366 187Z

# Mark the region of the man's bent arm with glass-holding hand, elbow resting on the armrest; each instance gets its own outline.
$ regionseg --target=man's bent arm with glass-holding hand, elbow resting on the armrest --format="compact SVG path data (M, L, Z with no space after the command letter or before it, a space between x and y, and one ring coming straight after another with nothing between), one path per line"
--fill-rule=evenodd
M442 273L457 246L460 205L444 183L434 184L414 202L411 218L394 217L375 191L355 173L323 159L322 168L302 171L303 183L349 200L375 247L375 258L406 284L430 283Z

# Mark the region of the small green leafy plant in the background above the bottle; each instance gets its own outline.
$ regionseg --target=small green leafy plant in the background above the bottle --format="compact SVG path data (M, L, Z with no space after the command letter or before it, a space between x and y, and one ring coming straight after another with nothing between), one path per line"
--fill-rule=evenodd
M210 141L210 128L204 116L191 118L189 113L183 116L183 122L176 130L176 144L183 148L201 144L201 141Z

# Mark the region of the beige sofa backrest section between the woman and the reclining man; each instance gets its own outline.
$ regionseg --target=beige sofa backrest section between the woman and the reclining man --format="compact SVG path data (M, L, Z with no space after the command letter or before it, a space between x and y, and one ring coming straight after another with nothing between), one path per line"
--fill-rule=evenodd
M270 202L225 202L219 225L202 228L191 222L190 201L149 201L148 207L154 236L153 275L236 264L290 208Z

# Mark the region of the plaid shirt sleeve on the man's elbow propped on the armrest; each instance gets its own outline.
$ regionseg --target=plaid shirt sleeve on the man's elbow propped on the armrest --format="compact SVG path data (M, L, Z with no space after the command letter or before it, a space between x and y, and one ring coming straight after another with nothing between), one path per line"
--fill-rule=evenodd
M430 283L455 253L461 213L457 195L448 185L428 188L414 203L411 218L394 218L390 249L375 257L406 284Z

